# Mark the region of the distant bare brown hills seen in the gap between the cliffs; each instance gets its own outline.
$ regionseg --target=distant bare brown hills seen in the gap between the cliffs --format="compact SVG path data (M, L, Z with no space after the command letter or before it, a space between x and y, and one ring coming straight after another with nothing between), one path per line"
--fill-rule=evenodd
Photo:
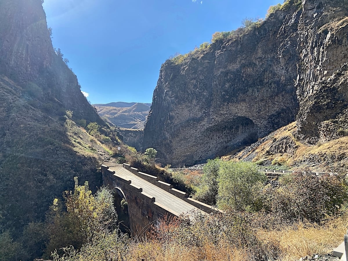
M100 117L110 124L129 129L144 129L151 103L110 102L93 104Z

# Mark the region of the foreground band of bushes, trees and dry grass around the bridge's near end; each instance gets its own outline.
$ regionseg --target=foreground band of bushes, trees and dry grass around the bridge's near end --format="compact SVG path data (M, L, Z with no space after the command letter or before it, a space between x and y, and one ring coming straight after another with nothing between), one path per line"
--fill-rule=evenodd
M45 258L76 260L293 260L325 254L342 240L348 220L344 175L316 177L298 172L264 183L251 163L209 160L201 195L224 213L165 218L146 239L117 227L112 193L94 195L88 183L55 199L42 228ZM266 182L267 183L267 182ZM203 189L203 187L205 189ZM210 193L210 195L209 195Z

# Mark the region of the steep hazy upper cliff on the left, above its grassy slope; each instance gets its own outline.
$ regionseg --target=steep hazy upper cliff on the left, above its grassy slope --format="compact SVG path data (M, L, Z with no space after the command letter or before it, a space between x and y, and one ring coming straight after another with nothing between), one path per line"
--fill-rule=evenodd
M104 125L81 93L76 75L55 54L41 0L2 0L0 21L0 74L29 95L35 93L47 109L63 107L76 118Z

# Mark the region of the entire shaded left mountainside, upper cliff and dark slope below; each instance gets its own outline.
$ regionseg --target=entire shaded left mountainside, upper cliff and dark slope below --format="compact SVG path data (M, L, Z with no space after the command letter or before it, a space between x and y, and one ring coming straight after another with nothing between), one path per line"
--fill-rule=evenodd
M66 110L74 121L104 122L55 54L40 0L0 1L0 24L0 235L25 242L17 258L33 260L28 224L44 219L74 176L101 184L93 155L73 149Z

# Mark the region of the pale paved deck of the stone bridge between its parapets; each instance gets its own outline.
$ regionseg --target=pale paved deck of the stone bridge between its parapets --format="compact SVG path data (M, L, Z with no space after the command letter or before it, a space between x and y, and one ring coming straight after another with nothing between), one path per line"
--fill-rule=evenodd
M111 171L115 171L115 175L121 177L125 180L131 180L132 184L143 189L143 192L156 198L156 202L159 204L171 209L172 211L182 214L190 211L191 209L196 209L200 212L195 206L183 201L182 199L175 197L171 193L157 187L156 185L151 184L150 182L143 180L142 178L136 176L132 172L128 171L122 166L109 167ZM203 212L204 213L204 212Z

